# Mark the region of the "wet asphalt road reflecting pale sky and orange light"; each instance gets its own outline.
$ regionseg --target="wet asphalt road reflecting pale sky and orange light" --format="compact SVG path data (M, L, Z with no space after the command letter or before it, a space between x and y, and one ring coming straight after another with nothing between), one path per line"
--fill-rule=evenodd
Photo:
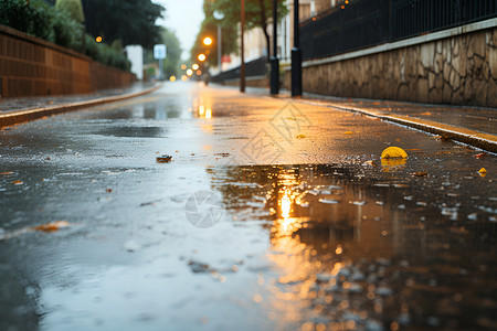
M2 130L0 329L496 329L479 153L186 83Z

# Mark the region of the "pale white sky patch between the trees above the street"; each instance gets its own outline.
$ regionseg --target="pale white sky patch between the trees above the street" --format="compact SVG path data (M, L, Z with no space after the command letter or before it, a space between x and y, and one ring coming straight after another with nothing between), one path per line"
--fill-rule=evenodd
M166 8L165 19L157 23L175 31L183 50L181 57L190 57L190 49L203 21L203 0L152 0L152 2Z

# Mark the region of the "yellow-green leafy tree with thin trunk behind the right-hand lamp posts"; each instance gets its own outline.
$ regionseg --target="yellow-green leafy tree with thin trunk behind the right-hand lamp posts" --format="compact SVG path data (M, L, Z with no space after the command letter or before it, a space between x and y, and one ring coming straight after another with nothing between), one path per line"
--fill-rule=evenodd
M278 20L288 13L284 0L277 0ZM223 24L236 25L240 23L241 2L233 0L215 0L213 10L224 14ZM246 30L261 28L265 40L267 57L271 54L271 40L267 31L268 24L273 21L273 0L245 0L245 25Z

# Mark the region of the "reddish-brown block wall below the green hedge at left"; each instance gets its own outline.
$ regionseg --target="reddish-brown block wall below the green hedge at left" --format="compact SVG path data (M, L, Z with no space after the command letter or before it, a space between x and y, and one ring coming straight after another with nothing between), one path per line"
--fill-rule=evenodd
M134 75L0 25L0 96L84 94L131 84Z

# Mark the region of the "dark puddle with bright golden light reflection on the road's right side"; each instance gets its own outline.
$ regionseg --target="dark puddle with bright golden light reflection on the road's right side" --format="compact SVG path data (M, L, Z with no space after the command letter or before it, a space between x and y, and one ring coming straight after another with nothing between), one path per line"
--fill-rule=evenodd
M340 166L210 170L233 222L261 221L278 329L495 329L496 201ZM445 179L441 179L444 181ZM440 183L431 183L437 188Z

